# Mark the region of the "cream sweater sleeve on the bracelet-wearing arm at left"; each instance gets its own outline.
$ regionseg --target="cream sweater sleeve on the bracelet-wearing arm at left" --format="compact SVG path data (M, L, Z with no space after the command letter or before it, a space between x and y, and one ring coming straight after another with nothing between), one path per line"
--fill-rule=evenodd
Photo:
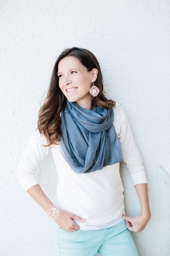
M34 173L40 162L48 155L50 146L44 147L47 141L37 130L34 130L19 161L16 175L19 183L27 191L30 187L39 184Z

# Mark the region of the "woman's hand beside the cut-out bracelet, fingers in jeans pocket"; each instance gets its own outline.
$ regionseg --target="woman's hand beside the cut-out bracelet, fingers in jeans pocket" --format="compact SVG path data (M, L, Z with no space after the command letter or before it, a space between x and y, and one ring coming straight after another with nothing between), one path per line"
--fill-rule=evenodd
M77 225L73 220L84 222L85 219L75 215L74 213L68 211L62 211L58 215L58 219L55 220L58 226L60 226L64 231L67 232L76 232L80 229L80 226Z

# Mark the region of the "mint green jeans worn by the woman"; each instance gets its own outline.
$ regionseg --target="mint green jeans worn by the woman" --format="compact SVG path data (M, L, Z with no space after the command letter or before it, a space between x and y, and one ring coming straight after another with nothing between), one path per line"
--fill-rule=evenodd
M66 232L57 227L57 256L138 256L125 221L111 228Z

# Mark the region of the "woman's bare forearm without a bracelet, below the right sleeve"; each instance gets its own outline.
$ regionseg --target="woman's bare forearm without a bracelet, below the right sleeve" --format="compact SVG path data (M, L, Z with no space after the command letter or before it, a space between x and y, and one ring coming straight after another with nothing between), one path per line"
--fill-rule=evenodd
M135 185L137 195L141 207L141 215L150 218L150 208L148 199L148 188L147 184L137 184Z

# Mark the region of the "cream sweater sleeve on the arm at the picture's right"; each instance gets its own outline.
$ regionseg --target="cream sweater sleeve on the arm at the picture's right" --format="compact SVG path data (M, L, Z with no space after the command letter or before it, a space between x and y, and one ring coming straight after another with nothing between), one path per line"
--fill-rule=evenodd
M121 108L121 127L119 140L122 148L123 161L128 168L133 185L147 183L142 158L136 147L128 119Z

